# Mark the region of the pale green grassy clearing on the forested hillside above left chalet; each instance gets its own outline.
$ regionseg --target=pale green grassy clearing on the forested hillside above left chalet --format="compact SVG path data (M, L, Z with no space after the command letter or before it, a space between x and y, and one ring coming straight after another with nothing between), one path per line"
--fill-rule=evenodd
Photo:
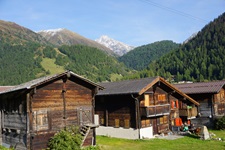
M45 70L49 70L50 74L62 73L65 71L62 66L55 64L55 59L43 58L41 65Z

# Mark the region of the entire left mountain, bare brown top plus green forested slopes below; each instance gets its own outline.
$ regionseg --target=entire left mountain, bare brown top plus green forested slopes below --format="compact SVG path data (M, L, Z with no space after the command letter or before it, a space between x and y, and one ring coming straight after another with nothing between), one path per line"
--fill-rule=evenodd
M32 30L5 21L0 22L0 64L0 85L17 85L65 70L95 82L119 80L130 73L98 48L55 46Z

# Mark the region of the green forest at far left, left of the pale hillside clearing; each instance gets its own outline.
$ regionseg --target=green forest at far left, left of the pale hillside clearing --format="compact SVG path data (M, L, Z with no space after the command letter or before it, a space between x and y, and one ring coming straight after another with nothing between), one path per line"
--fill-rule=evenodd
M0 85L15 85L46 75L35 53L41 46L27 43L12 45L0 41Z

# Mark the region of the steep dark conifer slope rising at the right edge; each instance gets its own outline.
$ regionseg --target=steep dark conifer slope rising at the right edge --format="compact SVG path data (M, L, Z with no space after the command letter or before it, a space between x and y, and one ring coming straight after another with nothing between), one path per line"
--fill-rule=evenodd
M206 25L193 39L129 78L160 75L175 81L225 78L225 13Z

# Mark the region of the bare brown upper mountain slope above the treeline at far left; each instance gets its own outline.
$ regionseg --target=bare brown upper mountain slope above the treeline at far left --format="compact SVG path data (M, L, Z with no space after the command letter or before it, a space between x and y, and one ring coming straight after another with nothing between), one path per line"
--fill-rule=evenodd
M13 44L35 42L49 44L41 35L16 23L0 20L0 38Z

